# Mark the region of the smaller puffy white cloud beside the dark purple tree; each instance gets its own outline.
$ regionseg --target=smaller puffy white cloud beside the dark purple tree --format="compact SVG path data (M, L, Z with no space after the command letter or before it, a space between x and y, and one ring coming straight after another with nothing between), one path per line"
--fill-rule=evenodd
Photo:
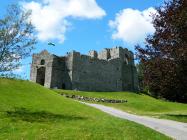
M109 26L114 30L112 38L132 45L142 43L148 34L155 31L150 16L155 13L156 10L152 7L144 11L130 8L120 11L115 20L109 21Z

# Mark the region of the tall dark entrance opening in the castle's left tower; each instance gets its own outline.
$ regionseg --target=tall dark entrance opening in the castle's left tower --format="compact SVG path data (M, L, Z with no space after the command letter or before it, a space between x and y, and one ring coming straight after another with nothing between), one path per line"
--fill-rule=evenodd
M44 86L45 83L45 67L40 67L37 69L36 83Z

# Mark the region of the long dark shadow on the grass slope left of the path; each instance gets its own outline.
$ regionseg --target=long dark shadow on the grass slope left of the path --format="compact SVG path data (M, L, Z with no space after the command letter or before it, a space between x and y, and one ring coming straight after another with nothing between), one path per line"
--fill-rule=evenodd
M22 120L26 122L56 122L60 120L76 121L86 119L84 117L54 114L46 111L32 112L25 108L16 108L14 111L6 111L6 115L13 121Z

